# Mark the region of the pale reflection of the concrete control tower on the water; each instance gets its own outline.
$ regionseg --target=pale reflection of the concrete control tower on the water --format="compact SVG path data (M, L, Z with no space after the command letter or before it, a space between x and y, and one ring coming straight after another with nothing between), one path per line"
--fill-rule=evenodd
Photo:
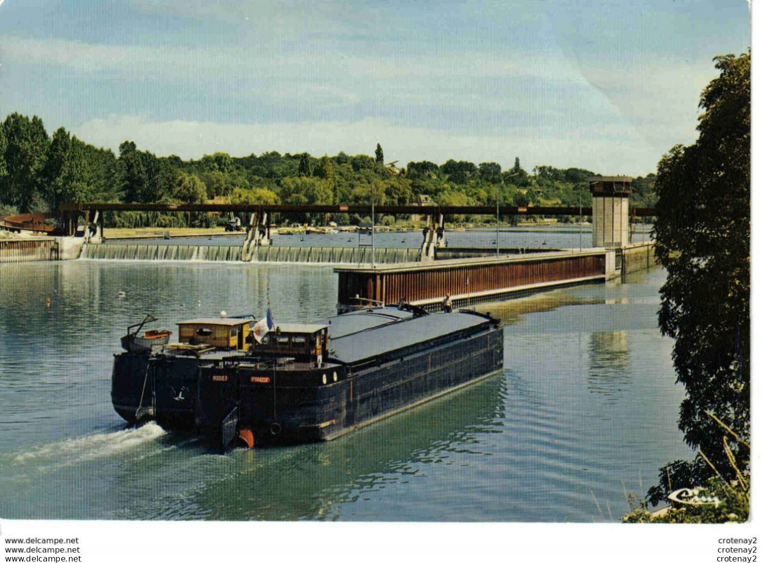
M632 376L626 331L594 332L590 336L588 389L613 401L623 396Z

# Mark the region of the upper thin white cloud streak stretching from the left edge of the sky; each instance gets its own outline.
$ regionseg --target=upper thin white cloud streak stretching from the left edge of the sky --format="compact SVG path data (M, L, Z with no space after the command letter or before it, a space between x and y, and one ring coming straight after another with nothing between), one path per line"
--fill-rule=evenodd
M349 78L434 78L536 76L566 80L562 60L548 56L508 56L490 51L459 53L387 53L383 57L346 52L335 43L258 50L251 46L107 45L59 38L6 35L3 62L18 65L62 66L81 72L119 71L130 74L161 72L182 75L246 75L267 72L267 78L328 75ZM513 57L513 58L511 58Z

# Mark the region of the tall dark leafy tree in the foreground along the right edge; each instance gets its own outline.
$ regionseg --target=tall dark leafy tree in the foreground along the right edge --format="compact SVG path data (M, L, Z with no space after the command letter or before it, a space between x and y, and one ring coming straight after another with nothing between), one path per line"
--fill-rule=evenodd
M751 56L716 57L718 78L700 98L699 137L661 159L655 181L656 254L667 270L659 325L674 338L677 381L685 385L680 430L731 481L748 450L750 432ZM741 454L740 456L738 454ZM713 474L703 456L672 462L653 504L668 491L705 482Z

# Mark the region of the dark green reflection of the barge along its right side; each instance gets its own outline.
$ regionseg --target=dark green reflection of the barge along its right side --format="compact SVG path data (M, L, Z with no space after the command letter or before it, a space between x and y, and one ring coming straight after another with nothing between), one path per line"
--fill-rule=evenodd
M188 499L177 505L163 497L124 516L153 518L176 506L171 517L194 518L201 510L214 520L351 519L353 505L374 493L415 488L428 464L457 472L469 459L490 455L479 434L495 424L503 393L504 381L494 377L340 440L239 450L230 456L226 478L193 495L190 512L183 510Z

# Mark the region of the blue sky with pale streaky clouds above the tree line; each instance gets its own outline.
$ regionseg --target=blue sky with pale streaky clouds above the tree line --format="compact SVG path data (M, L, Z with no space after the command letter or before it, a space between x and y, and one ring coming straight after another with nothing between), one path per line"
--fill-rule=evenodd
M0 119L117 152L645 175L696 139L746 0L5 0Z

